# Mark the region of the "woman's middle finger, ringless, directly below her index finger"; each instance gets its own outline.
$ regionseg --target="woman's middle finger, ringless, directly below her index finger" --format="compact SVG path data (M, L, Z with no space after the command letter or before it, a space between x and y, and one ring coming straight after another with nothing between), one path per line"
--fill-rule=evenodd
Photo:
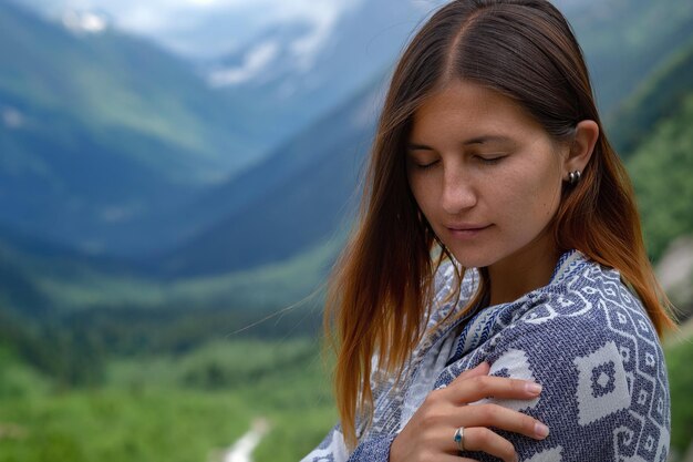
M549 428L537 419L499 404L470 404L459 412L458 427L495 427L524 434L535 440L544 440Z

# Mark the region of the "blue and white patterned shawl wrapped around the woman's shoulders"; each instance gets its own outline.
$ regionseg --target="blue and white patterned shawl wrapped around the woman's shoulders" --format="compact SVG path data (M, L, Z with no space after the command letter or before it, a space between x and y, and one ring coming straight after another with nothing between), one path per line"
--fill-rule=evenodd
M375 373L373 420L358 428L355 450L348 451L337 425L302 462L387 462L392 441L428 392L483 361L490 363L492 374L544 386L535 400L495 401L550 429L542 441L499 431L520 461L666 461L664 356L642 304L618 271L572 250L560 258L547 286L441 324L451 310L465 306L477 278L467 271L455 305L446 301L454 268L441 267L430 330L405 368L405 380L395 383ZM463 455L497 460L483 453Z

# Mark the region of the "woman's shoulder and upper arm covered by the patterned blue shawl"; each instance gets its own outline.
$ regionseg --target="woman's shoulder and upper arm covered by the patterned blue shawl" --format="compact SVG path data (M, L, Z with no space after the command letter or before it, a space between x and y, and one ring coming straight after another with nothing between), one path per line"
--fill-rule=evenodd
M525 301L521 314L489 342L484 360L493 374L541 383L535 402L505 404L560 431L541 443L514 441L518 452L529 456L560 449L587 456L593 450L593 460L666 454L664 356L642 305L618 271L581 259ZM604 437L588 449L588 434Z

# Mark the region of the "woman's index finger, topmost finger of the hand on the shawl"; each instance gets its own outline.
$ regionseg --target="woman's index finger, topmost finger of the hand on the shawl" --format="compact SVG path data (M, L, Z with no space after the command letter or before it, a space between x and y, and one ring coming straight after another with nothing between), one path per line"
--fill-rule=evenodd
M541 386L535 382L507 377L474 376L455 380L447 387L454 401L468 403L484 398L532 399L541 393Z

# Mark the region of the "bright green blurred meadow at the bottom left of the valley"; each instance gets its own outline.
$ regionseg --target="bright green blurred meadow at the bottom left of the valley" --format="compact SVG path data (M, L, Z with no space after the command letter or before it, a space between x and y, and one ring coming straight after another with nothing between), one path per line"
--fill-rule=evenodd
M318 349L217 342L111 362L106 386L62 391L0 349L0 461L207 461L258 418L270 434L257 460L299 460L335 420Z

